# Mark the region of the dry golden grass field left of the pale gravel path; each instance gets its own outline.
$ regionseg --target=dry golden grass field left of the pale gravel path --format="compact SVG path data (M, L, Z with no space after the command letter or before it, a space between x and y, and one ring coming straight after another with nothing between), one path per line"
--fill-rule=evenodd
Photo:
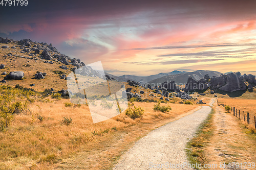
M104 151L106 148L95 146L93 143L97 143L104 136L115 138L116 131L143 124L155 128L155 124L161 120L170 121L198 107L168 104L173 110L161 113L153 112L153 105L156 103L135 102L135 106L143 107L145 110L142 118L134 120L122 113L104 122L93 124L88 106L65 107L67 102L68 99L36 99L36 102L29 106L31 114L15 115L11 126L0 132L0 169L47 169L48 166L79 153L81 147L84 148L88 144L94 145L99 152ZM38 115L45 117L42 123L39 123ZM62 125L63 117L72 118L72 124ZM137 129L131 133L133 134L129 135L135 135L135 138L128 139L128 143L141 136ZM121 152L120 150L116 154ZM109 155L106 159L110 161L112 156Z

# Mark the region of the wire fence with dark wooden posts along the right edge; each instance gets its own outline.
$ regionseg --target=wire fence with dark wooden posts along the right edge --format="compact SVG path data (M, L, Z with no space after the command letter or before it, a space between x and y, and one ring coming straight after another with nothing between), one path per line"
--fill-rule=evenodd
M218 106L223 106L226 107L228 105L224 105L224 104L219 104L218 99L217 99L217 104ZM240 109L237 109L236 107L230 107L230 111L233 114L233 116L238 117L239 119L243 119L245 122L247 122L248 125L254 125L254 128L256 129L256 116L251 116L252 118L250 118L250 113L246 112L246 111L240 111Z

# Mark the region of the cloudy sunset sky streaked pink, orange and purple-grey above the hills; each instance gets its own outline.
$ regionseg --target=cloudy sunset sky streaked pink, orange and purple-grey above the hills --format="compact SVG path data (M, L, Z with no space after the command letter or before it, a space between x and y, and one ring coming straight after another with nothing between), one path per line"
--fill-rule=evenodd
M0 37L52 43L110 74L256 75L256 1L32 1L0 5Z

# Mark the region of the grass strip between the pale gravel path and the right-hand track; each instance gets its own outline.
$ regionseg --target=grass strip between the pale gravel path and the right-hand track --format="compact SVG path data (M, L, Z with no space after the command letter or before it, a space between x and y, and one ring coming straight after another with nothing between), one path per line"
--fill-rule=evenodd
M211 109L211 112L196 132L195 137L187 142L186 155L191 165L196 163L203 165L207 162L207 159L205 158L204 147L207 146L210 137L214 134L214 126L212 125L212 116L214 113L214 109ZM196 169L199 168L197 167Z

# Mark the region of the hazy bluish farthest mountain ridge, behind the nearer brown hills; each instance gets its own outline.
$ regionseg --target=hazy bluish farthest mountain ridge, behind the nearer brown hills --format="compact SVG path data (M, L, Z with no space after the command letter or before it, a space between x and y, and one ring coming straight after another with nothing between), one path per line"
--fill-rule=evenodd
M119 80L131 80L131 81L136 81L136 82L140 82L142 84L164 77L164 76L169 76L169 75L177 75L177 74L182 74L185 73L186 71L178 71L178 70L174 70L172 72L161 72L157 75L151 75L151 76L132 76L132 75L123 75L123 76L119 76ZM116 78L115 78L116 79Z

